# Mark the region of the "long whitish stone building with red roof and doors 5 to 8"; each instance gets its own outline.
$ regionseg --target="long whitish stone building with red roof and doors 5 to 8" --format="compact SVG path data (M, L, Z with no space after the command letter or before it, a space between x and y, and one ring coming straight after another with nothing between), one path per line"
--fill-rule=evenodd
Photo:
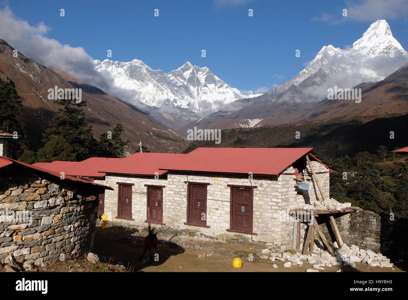
M305 206L303 196L295 191L295 168L310 187L311 204L320 197L306 155L328 195L332 170L313 155L312 148L135 153L98 167L104 177L93 180L112 188L105 192L103 204L110 221L145 225L149 206L153 224L291 247L289 211Z

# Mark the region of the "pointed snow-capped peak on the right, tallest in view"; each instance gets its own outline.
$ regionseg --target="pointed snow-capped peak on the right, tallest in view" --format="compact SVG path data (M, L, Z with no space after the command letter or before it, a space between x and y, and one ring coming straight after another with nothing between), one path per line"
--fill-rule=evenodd
M324 77L334 78L327 82L321 76L314 76L312 85L324 84L324 88L337 83L344 87L352 87L363 81L379 81L397 70L407 60L408 53L392 36L387 21L377 20L350 49L324 46L306 68L282 84L278 91L284 91L292 85L298 86L319 70Z

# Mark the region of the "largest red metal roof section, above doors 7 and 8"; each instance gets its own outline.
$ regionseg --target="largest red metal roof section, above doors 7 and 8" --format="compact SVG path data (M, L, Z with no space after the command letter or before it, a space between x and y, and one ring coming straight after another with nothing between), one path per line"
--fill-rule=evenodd
M279 175L313 148L197 148L160 166L174 171Z

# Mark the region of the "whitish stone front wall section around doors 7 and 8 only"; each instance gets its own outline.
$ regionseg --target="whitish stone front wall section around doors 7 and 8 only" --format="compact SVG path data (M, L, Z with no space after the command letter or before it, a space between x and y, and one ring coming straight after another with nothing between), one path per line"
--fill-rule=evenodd
M177 229L191 228L185 225L187 220L187 184L189 182L209 183L207 186L207 226L210 228L196 227L200 232L208 235L234 234L240 236L251 235L233 233L226 231L230 228L230 193L231 185L251 187L253 189L253 240L280 240L279 231L279 211L280 200L276 197L279 194L281 182L276 177L254 176L250 181L248 176L229 176L220 174L186 174L169 172L169 191L167 194L164 209L168 211L167 219L164 223ZM271 230L272 229L272 230Z

